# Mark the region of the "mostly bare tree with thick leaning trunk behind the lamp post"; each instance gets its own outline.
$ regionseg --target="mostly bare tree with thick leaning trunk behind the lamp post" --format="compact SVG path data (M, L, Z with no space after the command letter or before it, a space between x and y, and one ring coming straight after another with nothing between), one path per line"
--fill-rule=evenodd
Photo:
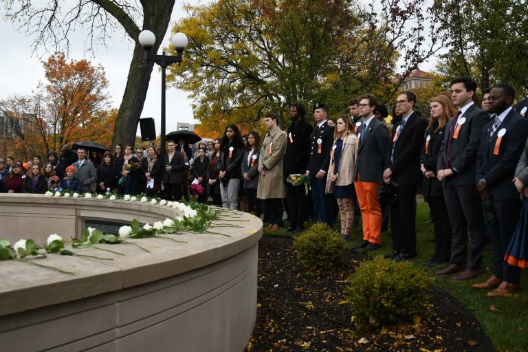
M137 36L140 28L151 30L156 36L152 51L157 52L166 34L175 0L48 1L42 6L25 0L3 2L8 19L20 23L21 30L33 36L35 50L45 47L52 48L52 52L61 49L67 52L69 35L79 29L89 33L87 50L93 50L97 45L105 46L109 34L116 30L126 33L135 46L115 120L112 145L132 144L154 65L144 61L144 50Z

